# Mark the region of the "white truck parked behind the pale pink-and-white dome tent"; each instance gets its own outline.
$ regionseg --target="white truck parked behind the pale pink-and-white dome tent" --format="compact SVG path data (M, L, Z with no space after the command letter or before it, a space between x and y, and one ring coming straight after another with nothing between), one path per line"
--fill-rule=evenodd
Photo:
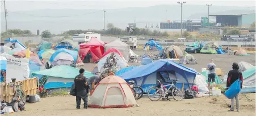
M119 37L118 39L120 41L128 44L131 49L136 49L137 48L137 37L125 36L125 37Z

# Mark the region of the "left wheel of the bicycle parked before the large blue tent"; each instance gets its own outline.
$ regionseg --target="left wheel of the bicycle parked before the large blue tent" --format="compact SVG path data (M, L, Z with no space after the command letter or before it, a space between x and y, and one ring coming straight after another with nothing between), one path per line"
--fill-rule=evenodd
M148 97L151 101L158 101L162 97L162 90L161 88L152 87L148 91Z

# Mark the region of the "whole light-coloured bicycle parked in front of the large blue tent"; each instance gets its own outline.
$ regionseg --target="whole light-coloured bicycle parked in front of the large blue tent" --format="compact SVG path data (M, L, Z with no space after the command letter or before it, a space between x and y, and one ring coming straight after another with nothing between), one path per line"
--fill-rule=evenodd
M156 87L152 87L148 91L148 97L151 101L158 101L161 97L168 100L168 96L173 96L173 99L181 101L183 99L183 93L179 88L175 86L178 80L174 80L171 84L163 85L161 80L158 80L159 84ZM166 86L170 86L166 89ZM156 100L154 100L156 98Z

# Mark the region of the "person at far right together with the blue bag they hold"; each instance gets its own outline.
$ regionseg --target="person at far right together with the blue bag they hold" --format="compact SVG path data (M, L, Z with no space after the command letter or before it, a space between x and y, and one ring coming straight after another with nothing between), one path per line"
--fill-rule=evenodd
M238 70L239 66L237 63L232 64L233 70L228 72L228 79L226 80L226 88L228 89L225 92L226 97L231 99L231 109L229 111L234 111L234 100L236 99L236 108L239 111L239 92L242 88L243 76L242 73Z

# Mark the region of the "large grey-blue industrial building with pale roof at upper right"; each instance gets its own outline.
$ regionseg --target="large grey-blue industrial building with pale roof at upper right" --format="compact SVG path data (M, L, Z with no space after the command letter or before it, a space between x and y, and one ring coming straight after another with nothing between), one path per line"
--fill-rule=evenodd
M221 26L237 26L239 28L250 28L250 25L255 21L255 11L227 13L209 15L216 17L216 23Z

